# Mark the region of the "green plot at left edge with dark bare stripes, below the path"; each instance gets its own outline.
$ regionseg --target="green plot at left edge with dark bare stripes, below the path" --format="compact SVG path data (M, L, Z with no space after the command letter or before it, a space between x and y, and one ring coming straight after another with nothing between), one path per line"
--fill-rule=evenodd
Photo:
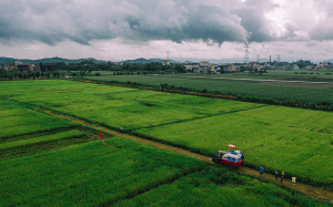
M0 159L91 141L91 132L79 124L13 101L0 100Z

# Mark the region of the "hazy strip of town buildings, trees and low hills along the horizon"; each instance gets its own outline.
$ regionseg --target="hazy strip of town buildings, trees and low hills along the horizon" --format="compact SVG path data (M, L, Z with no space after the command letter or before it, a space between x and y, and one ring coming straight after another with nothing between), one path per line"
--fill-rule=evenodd
M52 60L54 62L52 62ZM64 59L63 59L64 60ZM226 63L215 64L209 61L200 62L185 62L179 63L171 60L145 60L137 59L133 61L111 62L111 61L97 61L94 59L77 60L73 62L61 62L57 59L48 59L44 62L28 63L29 61L13 61L10 63L0 63L2 71L18 71L18 72L54 72L54 71L129 71L135 73L155 73L155 72L170 72L170 73L201 73L201 74L222 74L222 73L236 73L236 72L254 72L263 73L268 70L309 70L316 71L319 69L333 69L331 62L320 62L314 64L309 60L299 60L295 62L282 61L251 61L245 63ZM30 61L31 62L31 61Z

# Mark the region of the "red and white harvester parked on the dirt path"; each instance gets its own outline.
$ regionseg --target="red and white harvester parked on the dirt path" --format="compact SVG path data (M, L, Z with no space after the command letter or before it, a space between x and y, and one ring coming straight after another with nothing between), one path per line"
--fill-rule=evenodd
M240 166L244 165L244 153L241 151L236 151L236 146L234 145L228 145L230 148L232 148L231 152L229 151L218 151L216 153L213 153L211 155L211 159L214 163L224 163L226 165L232 166Z

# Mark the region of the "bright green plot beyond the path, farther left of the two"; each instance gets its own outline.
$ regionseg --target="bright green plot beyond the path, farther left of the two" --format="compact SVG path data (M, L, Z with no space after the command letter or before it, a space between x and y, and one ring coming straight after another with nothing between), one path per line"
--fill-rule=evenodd
M16 91L11 84L7 83L3 86L14 94L13 99L17 101L118 128L125 127L125 130L151 127L261 106L252 103L70 81L38 81L29 82L29 85L18 83L26 93Z

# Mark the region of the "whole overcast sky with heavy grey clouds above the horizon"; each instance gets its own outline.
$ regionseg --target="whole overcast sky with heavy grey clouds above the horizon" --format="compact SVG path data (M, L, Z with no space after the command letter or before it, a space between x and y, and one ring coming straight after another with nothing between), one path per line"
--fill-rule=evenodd
M332 0L0 0L0 55L333 58Z

